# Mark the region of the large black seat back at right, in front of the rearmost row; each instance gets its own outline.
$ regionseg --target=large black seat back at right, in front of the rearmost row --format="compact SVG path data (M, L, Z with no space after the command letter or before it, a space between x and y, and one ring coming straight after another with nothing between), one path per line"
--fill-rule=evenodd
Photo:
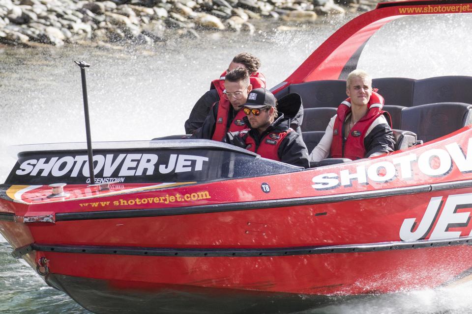
M472 123L472 105L436 103L402 110L401 130L416 133L418 140L428 142Z

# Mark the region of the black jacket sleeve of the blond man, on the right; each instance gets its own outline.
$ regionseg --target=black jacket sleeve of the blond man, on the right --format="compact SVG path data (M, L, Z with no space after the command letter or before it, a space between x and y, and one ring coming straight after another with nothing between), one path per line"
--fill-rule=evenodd
M393 152L395 145L395 138L393 131L388 124L379 124L372 129L364 138L365 157L369 157L374 153L389 153Z

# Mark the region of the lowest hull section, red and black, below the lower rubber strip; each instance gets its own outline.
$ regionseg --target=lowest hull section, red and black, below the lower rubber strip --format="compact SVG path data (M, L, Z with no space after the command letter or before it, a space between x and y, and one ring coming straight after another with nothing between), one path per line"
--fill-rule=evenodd
M93 313L296 313L362 294L464 280L472 247L277 258L47 256L45 281Z

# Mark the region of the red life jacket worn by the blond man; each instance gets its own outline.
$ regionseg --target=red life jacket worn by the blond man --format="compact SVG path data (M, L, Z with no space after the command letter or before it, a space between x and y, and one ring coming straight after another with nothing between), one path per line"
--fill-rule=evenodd
M382 110L383 103L383 97L376 92L372 92L369 103L367 104L367 113L357 121L356 124L354 124L348 137L344 140L344 144L343 125L344 121L346 121L347 115L351 112L351 98L346 99L341 103L341 105L339 105L337 117L334 121L333 141L330 149L332 158L350 158L355 160L365 157L365 154L367 153L364 147L365 133L375 119L383 114L386 114L387 117L389 117L388 112Z

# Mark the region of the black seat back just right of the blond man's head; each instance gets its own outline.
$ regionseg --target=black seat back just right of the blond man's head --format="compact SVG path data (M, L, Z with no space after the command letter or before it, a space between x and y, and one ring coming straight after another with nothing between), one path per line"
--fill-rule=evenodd
M413 78L374 78L372 87L385 100L385 105L411 107L413 104Z

